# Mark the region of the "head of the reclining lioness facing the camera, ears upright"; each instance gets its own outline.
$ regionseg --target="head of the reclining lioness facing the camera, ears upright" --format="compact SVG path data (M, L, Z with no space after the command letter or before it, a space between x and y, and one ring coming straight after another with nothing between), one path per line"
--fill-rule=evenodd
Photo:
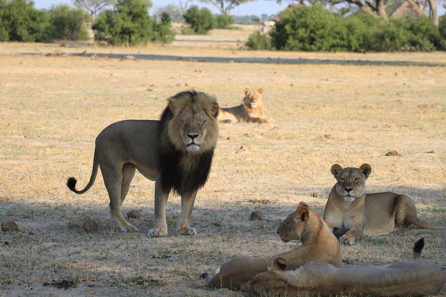
M344 169L338 164L331 166L331 174L337 181L336 192L347 202L351 202L365 193L365 181L371 172L372 167L368 164L363 164L359 168L347 167Z

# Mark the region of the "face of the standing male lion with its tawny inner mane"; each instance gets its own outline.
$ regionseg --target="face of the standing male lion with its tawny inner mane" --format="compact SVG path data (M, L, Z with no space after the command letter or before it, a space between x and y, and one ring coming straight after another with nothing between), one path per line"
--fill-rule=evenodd
M168 99L172 112L168 135L180 151L205 152L217 142L217 99L203 92L183 91Z

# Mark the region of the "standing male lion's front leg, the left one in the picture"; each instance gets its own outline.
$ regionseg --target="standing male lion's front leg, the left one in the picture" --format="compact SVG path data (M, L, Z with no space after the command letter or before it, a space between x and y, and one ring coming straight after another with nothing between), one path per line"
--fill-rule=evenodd
M161 181L159 175L155 181L155 214L153 219L153 228L147 232L147 236L158 237L168 235L166 221L166 205L169 192L161 190Z

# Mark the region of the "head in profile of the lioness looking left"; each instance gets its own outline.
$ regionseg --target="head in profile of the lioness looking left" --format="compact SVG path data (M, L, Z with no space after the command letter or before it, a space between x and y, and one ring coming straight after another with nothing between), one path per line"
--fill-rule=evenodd
M289 242L290 240L301 240L302 233L308 216L310 215L310 208L305 202L300 202L297 210L290 214L277 228L277 233L280 238Z

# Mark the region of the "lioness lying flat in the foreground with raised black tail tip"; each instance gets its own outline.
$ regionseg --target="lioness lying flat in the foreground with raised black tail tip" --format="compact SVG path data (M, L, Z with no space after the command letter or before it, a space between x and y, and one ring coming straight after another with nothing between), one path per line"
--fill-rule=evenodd
M446 269L419 261L424 245L414 247L414 262L379 266L338 268L310 262L296 270L287 270L287 260L275 258L268 272L259 273L242 285L244 292L259 296L426 296L439 293L446 282ZM421 248L420 248L421 247ZM307 295L305 295L307 294Z

